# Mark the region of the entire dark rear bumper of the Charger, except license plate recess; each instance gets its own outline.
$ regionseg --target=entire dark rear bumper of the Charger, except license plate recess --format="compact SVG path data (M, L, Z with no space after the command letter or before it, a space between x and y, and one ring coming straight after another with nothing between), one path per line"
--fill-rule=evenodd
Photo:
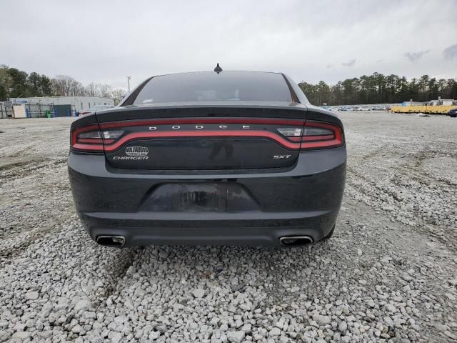
M277 172L139 172L111 169L104 155L69 155L76 209L92 239L121 236L145 244L268 245L280 237L331 232L343 197L346 148L300 153ZM149 204L166 184L236 184L252 204L239 211L160 211ZM152 210L151 210L152 209Z

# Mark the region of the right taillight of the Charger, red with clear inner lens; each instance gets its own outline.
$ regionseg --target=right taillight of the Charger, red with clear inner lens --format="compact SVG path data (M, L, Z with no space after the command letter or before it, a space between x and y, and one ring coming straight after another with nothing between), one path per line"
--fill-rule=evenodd
M289 141L300 142L301 149L326 149L343 146L343 131L338 125L306 121L303 127L281 127L277 129Z

